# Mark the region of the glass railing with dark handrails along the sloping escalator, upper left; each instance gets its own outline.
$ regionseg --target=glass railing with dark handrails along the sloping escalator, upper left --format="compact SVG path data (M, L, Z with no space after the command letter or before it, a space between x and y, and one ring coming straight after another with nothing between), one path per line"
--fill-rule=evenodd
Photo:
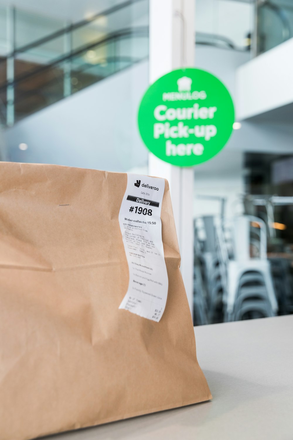
M147 58L148 0L126 1L25 45L12 34L14 50L0 57L0 118L8 126Z

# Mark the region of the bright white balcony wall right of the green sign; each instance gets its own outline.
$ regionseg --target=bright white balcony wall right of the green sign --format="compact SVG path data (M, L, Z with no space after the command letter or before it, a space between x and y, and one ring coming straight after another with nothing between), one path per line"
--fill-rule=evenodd
M293 38L239 67L236 78L240 119L293 103L292 55Z

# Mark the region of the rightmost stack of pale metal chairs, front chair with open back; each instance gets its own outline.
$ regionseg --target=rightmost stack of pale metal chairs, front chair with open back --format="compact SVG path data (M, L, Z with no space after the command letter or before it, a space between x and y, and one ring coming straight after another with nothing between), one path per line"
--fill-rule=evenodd
M274 316L278 310L267 259L266 226L253 216L232 221L233 259L227 267L226 320Z

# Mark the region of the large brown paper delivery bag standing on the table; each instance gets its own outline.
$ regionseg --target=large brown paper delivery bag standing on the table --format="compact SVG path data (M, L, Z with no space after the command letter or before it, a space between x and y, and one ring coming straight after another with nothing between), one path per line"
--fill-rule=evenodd
M209 400L166 182L159 322L120 310L127 174L0 163L0 438L25 440Z

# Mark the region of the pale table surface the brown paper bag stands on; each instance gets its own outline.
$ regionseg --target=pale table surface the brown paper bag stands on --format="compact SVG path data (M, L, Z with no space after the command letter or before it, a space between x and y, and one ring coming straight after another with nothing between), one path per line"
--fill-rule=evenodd
M195 327L213 400L50 440L292 440L293 315Z

